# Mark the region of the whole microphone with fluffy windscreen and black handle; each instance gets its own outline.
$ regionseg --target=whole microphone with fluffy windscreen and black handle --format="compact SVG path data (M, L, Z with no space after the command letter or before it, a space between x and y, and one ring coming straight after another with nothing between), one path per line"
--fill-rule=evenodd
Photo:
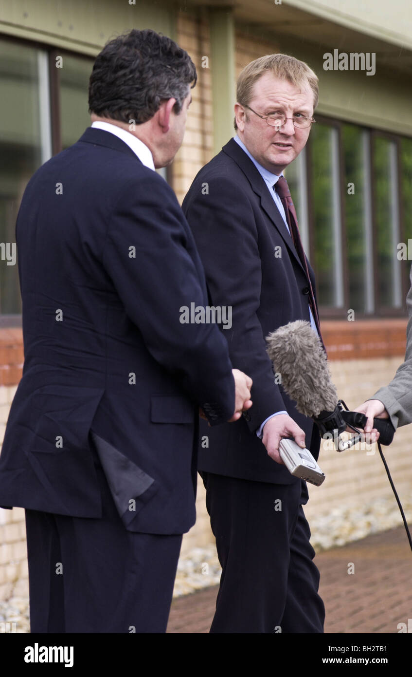
M332 436L338 451L359 441L361 435L354 426L365 427L367 416L361 412L348 412L346 404L338 399L326 353L311 324L305 320L290 322L271 332L266 340L267 353L275 372L281 374L285 393L296 402L300 414L313 419L321 437ZM340 435L346 427L352 428L357 435L344 441ZM373 427L380 433L381 444L392 442L394 427L390 420L374 418Z

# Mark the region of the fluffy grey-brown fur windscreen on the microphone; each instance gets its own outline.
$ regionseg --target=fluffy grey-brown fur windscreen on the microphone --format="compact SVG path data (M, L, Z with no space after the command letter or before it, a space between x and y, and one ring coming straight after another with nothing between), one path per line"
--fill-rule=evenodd
M327 357L309 322L296 320L267 336L267 353L281 385L304 416L333 412L338 393L331 381Z

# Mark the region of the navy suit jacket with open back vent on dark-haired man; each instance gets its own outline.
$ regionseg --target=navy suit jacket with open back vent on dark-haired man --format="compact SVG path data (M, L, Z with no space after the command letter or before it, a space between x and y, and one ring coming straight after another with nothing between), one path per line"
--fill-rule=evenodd
M16 226L23 376L0 456L0 505L101 517L93 445L127 529L195 521L198 407L233 414L227 343L181 324L207 304L173 190L89 127L30 179Z

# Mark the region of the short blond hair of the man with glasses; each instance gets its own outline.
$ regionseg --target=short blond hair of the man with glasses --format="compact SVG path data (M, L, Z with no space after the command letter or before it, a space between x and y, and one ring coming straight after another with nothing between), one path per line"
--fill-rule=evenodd
M317 75L304 61L288 54L267 54L245 66L237 79L236 100L242 106L248 106L253 95L254 84L267 71L276 78L288 80L292 85L309 85L313 91L313 110L319 100ZM237 129L235 120L235 129Z

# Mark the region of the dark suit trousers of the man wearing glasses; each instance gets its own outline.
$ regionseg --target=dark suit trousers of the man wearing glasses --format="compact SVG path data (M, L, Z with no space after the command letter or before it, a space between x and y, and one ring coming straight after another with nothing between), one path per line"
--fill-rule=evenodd
M322 633L306 483L201 472L222 567L212 633Z

